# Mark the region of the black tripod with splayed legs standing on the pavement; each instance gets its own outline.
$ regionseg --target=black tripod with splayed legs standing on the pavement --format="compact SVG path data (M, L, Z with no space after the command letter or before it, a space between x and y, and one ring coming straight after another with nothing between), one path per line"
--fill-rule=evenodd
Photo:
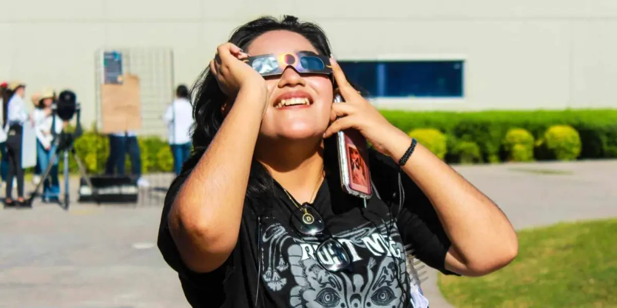
M68 169L68 163L69 163L68 153L71 153L73 155L73 159L77 163L81 177L85 179L86 184L88 185L88 187L90 188L90 191L92 192L94 200L97 201L98 203L96 190L94 190L92 182L90 182L90 177L88 176L88 173L86 172L86 167L84 166L83 161L81 160L80 156L77 155L77 152L75 151L75 139L81 136L81 132L82 132L81 125L80 125L79 108L77 109L77 129L75 129L75 132L72 132L72 133L65 132L63 129L62 132L60 132L60 134L55 134L55 131L54 131L54 128L56 127L55 110L54 110L54 113L52 114L54 115L54 117L52 118L53 120L51 124L52 134L54 136L54 140L52 141L52 144L56 145L56 150L54 151L53 155L49 159L48 166L43 172L41 181L38 184L36 184L36 188L34 192L32 192L30 199L28 199L28 205L32 205L34 198L36 197L36 195L38 195L38 191L41 188L41 186L43 186L45 181L48 179L49 174L51 173L51 169L56 164L56 161L58 160L61 152L64 158L64 200L62 200L62 202L59 201L59 205L62 206L62 208L64 208L65 210L68 210L68 206L70 204L70 186L69 186L69 182L70 182L69 175L70 174L69 174L69 169Z

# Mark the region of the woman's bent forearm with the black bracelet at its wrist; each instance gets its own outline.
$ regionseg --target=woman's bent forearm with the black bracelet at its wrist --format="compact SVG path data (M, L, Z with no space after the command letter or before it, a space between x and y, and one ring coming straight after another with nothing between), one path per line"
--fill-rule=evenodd
M411 144L391 136L389 155L398 161ZM402 168L433 204L465 273L486 274L516 256L518 241L507 217L458 172L418 144ZM452 256L450 256L452 257Z

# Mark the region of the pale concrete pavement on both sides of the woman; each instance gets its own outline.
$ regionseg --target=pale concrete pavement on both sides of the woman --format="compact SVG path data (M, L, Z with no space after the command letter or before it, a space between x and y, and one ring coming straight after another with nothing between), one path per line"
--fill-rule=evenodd
M617 217L617 161L456 169L517 229ZM169 177L150 180L165 187ZM37 202L33 210L0 210L0 307L188 307L155 246L163 195L162 188L144 191L136 206L73 203L65 211ZM452 307L436 274L426 278L431 307Z

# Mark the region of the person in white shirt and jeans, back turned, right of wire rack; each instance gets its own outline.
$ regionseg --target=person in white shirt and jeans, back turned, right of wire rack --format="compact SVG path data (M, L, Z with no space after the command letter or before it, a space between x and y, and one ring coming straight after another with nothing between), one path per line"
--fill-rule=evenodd
M189 89L184 84L176 88L176 99L167 107L163 115L167 124L168 142L172 148L173 171L180 174L182 164L191 153L191 126L193 126L193 105Z

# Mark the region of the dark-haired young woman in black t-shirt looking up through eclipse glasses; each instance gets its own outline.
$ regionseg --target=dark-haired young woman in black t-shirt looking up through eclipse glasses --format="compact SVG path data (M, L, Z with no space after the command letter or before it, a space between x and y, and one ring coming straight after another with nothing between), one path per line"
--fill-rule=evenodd
M196 150L159 229L193 307L408 307L404 246L446 274L485 275L516 256L500 209L392 126L330 54L317 25L263 17L204 71ZM341 129L373 147L366 203L341 188Z

